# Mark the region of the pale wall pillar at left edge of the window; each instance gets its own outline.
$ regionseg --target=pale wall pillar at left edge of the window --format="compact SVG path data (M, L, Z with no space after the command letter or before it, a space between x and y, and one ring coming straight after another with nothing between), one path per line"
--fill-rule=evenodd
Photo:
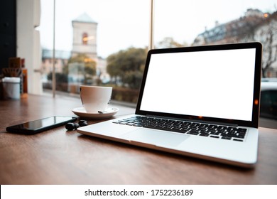
M40 32L40 0L16 1L16 38L17 57L25 59L28 70L28 93L42 94L43 86L40 74L41 48Z

